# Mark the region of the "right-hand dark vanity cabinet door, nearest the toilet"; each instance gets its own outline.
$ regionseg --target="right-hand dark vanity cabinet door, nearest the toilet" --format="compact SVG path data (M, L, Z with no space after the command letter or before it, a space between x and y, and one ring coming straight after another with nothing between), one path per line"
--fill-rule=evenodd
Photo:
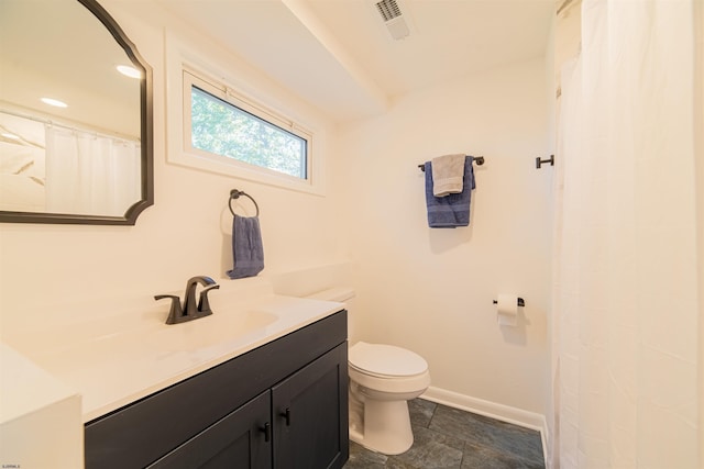
M350 450L346 343L274 387L272 412L275 468L341 468Z

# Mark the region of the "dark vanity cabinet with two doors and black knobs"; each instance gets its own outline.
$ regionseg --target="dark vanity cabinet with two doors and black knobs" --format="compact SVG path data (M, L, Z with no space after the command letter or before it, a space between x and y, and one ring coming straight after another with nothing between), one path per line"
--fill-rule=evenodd
M86 468L341 468L346 311L86 424Z

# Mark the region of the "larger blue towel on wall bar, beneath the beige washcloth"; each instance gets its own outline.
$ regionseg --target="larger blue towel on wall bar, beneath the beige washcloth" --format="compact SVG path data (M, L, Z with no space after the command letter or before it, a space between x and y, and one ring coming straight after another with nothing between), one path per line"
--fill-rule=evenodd
M432 164L426 161L426 205L428 208L428 226L431 228L454 228L470 224L470 202L474 182L474 165L472 157L464 158L464 181L462 192L444 197L432 194Z

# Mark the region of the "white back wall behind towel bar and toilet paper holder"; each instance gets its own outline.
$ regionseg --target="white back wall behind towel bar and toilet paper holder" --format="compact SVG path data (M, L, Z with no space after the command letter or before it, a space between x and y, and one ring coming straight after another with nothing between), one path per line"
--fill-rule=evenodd
M535 59L416 92L344 129L350 255L362 338L422 355L432 386L544 414L552 169L546 64ZM483 155L471 224L427 225L424 174L449 153ZM526 300L496 323L499 292Z

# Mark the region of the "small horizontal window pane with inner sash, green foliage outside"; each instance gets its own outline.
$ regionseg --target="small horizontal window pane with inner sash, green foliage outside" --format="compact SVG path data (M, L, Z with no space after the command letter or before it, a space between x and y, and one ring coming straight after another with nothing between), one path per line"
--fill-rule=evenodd
M188 152L302 181L312 136L294 122L184 70L184 144Z

